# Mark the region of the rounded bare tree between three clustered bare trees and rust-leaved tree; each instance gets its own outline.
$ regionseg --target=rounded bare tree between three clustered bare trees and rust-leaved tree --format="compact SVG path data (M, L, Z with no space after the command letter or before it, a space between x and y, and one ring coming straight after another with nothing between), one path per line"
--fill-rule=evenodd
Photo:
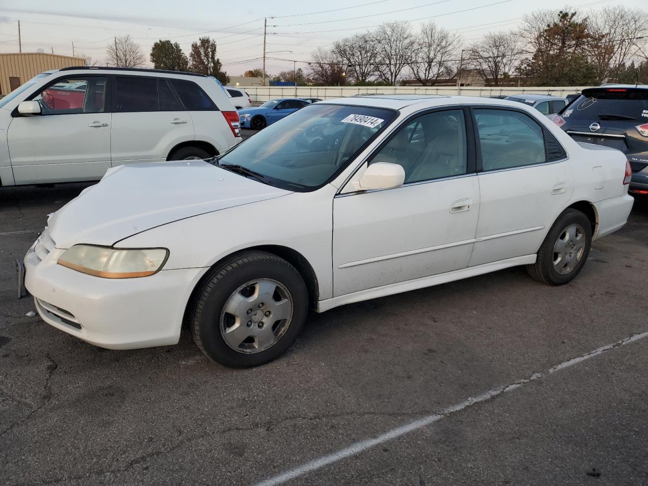
M491 32L470 44L465 50L464 65L459 69L472 69L487 84L492 78L498 86L500 78L513 73L522 55L520 47L520 36L515 32Z

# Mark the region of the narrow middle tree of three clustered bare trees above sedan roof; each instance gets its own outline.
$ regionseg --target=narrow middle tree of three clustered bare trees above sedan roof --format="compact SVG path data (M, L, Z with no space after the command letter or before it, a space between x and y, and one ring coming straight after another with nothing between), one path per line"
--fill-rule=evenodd
M414 49L415 38L407 22L386 22L374 34L378 48L378 76L392 86L400 79Z

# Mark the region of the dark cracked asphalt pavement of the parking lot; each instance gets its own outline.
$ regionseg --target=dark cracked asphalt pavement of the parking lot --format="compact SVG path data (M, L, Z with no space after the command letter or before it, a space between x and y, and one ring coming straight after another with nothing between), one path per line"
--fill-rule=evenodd
M648 203L571 284L347 305L234 370L187 332L109 351L26 315L14 259L86 186L0 188L1 485L648 484Z

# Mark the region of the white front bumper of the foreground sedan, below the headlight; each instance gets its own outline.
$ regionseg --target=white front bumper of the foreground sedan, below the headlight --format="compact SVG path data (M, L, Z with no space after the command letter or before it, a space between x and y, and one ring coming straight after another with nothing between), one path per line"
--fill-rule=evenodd
M25 286L43 321L91 344L135 349L178 343L185 307L207 269L162 270L138 279L102 279L25 255Z

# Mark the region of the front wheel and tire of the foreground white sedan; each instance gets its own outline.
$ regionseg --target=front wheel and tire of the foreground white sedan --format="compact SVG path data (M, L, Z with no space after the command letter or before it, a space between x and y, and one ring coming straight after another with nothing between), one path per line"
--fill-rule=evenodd
M190 323L200 351L241 368L281 356L307 314L308 291L295 267L272 253L254 251L214 268L197 294Z

